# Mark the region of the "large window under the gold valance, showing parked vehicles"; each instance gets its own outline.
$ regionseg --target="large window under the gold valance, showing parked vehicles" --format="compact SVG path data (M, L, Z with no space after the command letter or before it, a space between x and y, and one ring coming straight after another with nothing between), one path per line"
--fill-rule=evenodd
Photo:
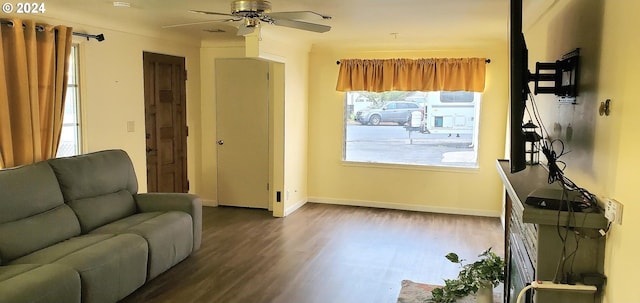
M481 93L347 92L343 160L477 167Z

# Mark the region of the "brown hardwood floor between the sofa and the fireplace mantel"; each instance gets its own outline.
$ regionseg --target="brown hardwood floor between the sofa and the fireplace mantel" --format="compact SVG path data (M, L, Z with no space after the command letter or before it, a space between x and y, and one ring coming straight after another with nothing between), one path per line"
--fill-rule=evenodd
M205 207L202 248L122 302L395 303L400 282L442 284L485 249L498 218L307 203L286 218Z

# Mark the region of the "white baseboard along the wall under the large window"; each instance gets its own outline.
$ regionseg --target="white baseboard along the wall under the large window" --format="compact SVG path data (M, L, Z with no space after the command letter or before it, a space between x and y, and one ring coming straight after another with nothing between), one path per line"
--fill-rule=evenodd
M379 201L333 199L333 198L323 198L323 197L309 197L309 202L335 204L335 205L374 207L374 208L388 208L388 209L398 209L398 210L410 210L410 211L420 211L420 212L428 212L428 213L468 215L468 216L479 216L479 217L495 217L495 218L499 218L500 215L502 214L501 211L402 204L402 203L379 202Z

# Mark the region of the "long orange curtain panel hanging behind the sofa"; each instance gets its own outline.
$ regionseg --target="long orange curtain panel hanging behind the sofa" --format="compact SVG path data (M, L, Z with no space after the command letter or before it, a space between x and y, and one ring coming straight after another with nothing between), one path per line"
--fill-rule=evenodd
M0 24L0 168L55 157L62 131L72 29Z

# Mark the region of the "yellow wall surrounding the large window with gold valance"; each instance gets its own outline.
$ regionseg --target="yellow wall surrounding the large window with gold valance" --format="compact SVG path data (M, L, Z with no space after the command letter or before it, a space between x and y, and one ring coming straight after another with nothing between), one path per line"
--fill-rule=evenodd
M478 169L408 168L342 162L344 93L335 90L342 58L486 57ZM351 51L313 49L309 75L309 201L499 216L508 108L506 43L475 50Z

